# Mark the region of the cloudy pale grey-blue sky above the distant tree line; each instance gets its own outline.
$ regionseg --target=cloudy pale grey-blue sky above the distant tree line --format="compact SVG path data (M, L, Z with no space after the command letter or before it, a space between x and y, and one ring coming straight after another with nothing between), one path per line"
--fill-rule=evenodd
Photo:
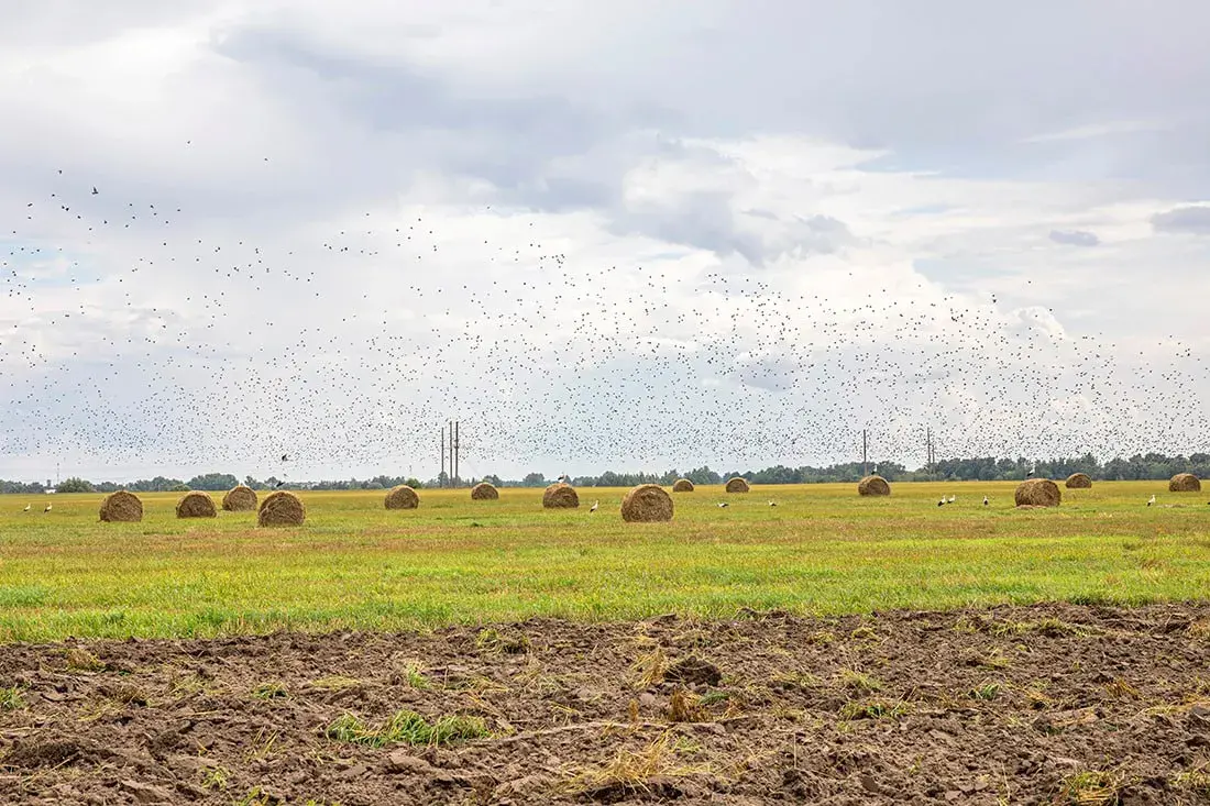
M1205 4L0 18L0 478L1210 450Z

